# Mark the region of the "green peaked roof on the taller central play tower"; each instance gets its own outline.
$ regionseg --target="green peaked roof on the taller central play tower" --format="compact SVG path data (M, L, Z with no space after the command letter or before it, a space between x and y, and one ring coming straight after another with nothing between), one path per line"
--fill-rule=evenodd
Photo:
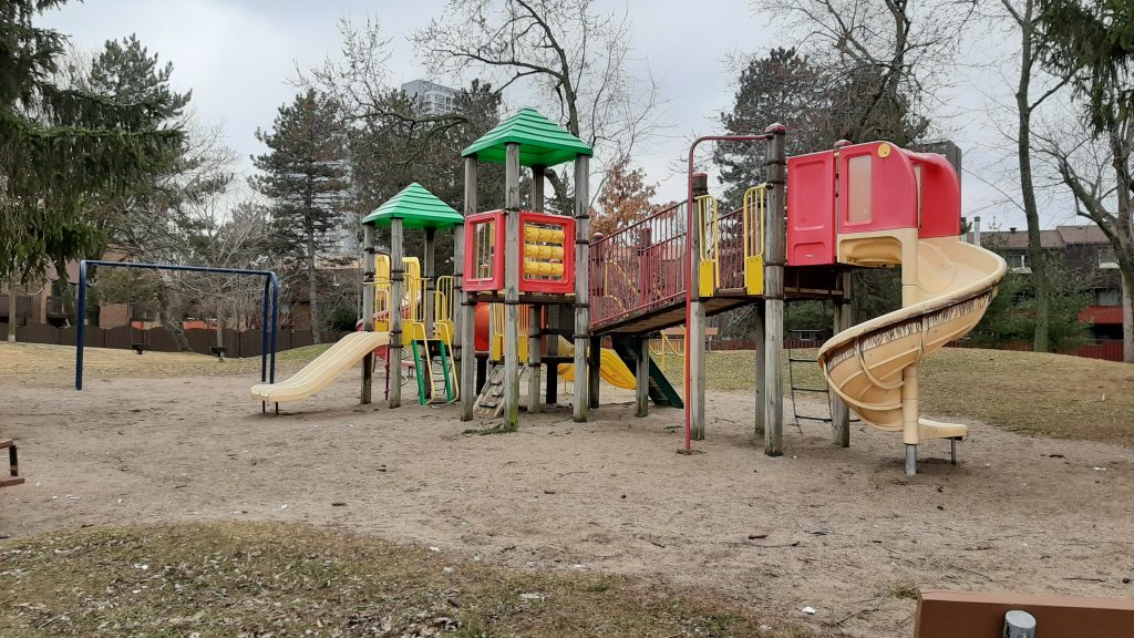
M490 163L503 163L503 148L509 143L519 144L521 166L556 166L574 160L575 156L594 154L582 140L535 109L526 108L485 133L460 154L476 156L477 160Z

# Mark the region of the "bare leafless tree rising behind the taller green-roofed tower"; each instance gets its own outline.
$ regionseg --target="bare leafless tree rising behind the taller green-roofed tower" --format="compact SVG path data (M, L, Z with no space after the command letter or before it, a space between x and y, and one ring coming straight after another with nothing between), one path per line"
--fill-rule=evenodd
M599 156L629 154L658 131L657 84L629 68L628 15L600 14L591 0L450 0L413 40L433 73L533 90ZM548 171L548 179L565 201L566 175Z

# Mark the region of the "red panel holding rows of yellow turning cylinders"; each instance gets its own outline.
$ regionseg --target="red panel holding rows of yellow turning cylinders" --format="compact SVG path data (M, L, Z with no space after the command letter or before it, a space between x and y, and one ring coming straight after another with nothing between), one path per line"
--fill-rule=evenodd
M575 218L519 213L519 291L575 292Z

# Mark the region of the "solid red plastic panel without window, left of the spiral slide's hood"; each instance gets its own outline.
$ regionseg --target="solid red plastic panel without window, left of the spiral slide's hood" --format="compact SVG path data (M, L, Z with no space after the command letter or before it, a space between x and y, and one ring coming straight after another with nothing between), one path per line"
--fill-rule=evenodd
M835 154L787 160L787 263L835 263Z

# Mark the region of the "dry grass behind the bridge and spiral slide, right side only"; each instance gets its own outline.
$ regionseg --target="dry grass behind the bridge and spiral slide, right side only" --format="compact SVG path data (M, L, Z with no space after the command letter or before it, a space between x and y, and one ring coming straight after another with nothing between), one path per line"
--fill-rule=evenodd
M799 358L814 351L797 350ZM666 376L682 387L683 363L667 356ZM823 387L818 366L796 363L797 385ZM711 352L708 388L752 392L755 353ZM1101 440L1134 447L1134 366L1064 354L945 349L921 369L922 411L931 418L974 419L1010 431ZM788 387L784 369L785 393Z

